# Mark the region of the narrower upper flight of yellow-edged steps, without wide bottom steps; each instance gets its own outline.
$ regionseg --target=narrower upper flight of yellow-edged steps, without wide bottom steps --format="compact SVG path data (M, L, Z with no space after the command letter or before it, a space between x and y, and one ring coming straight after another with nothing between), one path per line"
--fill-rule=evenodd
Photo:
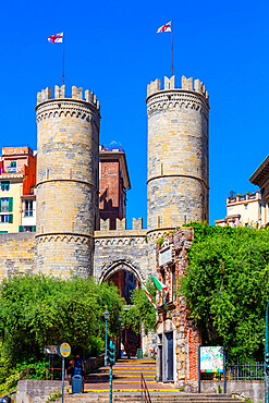
M139 392L140 375L148 391L175 392L176 390L156 381L155 359L119 359L113 366L113 392ZM84 392L109 392L109 367L101 367L85 377Z

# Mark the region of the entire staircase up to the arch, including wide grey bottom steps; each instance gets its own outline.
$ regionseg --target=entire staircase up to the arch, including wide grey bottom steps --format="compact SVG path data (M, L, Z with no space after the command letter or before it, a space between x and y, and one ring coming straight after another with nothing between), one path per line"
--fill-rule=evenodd
M151 403L232 403L239 402L231 395L217 393L184 393L167 383L156 381L156 362L154 359L119 359L113 366L113 402L144 402L140 387L143 374ZM71 390L70 390L71 393ZM61 399L56 402L61 403ZM109 367L101 367L85 377L84 393L64 394L64 403L109 402Z

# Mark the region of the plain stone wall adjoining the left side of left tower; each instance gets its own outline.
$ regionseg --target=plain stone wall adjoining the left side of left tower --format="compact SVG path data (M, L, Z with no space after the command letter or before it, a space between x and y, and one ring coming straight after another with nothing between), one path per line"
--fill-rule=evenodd
M35 271L35 233L0 234L0 280Z

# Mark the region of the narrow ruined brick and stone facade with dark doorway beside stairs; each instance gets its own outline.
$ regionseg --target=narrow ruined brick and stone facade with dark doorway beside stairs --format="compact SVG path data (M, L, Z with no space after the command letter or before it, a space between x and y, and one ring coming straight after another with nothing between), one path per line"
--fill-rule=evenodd
M193 229L184 227L167 234L157 247L159 281L167 285L162 295L157 293L157 379L197 392L200 334L179 292L193 237Z

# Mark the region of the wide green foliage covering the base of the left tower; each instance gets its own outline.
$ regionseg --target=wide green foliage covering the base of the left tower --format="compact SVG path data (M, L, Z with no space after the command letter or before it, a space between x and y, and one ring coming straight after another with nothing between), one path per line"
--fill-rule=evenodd
M123 300L115 286L93 279L61 280L44 274L14 277L0 284L0 382L11 368L44 359L44 347L70 343L88 354L103 350L105 318L108 334L119 331ZM23 363L23 364L22 364ZM34 365L33 365L34 366Z

